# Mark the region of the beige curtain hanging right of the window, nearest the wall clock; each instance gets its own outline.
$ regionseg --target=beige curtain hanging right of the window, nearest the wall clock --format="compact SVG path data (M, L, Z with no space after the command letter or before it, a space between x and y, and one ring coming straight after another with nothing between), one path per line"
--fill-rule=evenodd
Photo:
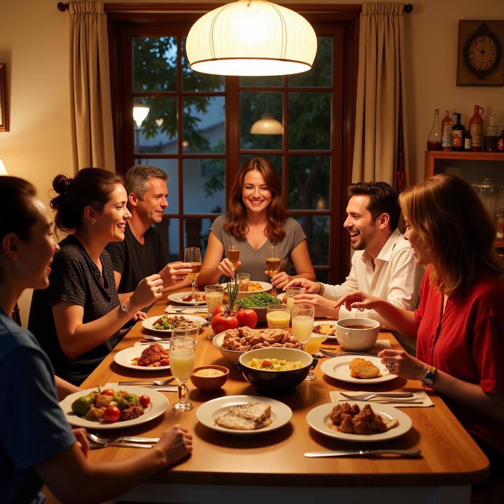
M362 4L353 182L383 180L397 186L399 133L404 139L404 159L408 159L403 5ZM399 131L400 99L402 132Z

